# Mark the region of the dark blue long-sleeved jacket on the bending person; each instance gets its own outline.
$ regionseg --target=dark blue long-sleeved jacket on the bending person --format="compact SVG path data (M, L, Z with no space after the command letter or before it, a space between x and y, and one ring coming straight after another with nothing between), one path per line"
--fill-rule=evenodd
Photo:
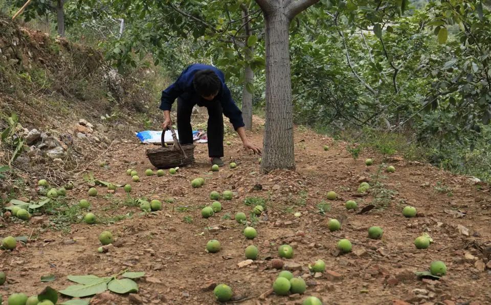
M223 109L225 116L230 119L230 123L232 123L235 130L239 127L243 127L245 124L242 120L242 111L240 111L232 99L230 90L225 84L224 73L214 66L206 64L195 63L188 66L172 85L162 91L162 99L159 108L170 111L174 100L184 94L186 95L184 102L203 106L203 103L201 102L202 98L196 93L196 90L194 90L193 78L196 72L204 69L213 70L221 81L221 89L213 101L219 101L221 103L221 108Z

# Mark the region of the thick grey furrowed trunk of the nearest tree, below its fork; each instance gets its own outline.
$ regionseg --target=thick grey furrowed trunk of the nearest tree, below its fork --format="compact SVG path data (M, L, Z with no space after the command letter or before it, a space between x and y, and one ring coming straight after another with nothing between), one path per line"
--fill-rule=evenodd
M295 169L288 26L284 8L264 14L266 126L261 170Z

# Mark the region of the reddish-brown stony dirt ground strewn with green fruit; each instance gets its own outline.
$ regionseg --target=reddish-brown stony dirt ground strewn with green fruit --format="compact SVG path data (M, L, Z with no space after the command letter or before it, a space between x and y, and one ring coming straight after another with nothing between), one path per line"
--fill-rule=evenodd
M250 136L261 144L262 127ZM237 162L236 169L226 166L210 173L206 144L197 144L194 165L181 168L175 175L166 171L163 177L144 175L152 166L145 156L148 147L138 144L137 139L110 147L102 157L109 166L101 168L96 161L89 168L96 178L131 184L134 198L173 198L173 203L164 203L159 212L140 215L138 206L123 204L126 194L121 188L108 195L98 186L99 195L89 199L93 213L98 217L133 213L132 217L112 225L73 224L71 232L65 234L43 229L48 216L35 225L5 223L0 236L31 236L31 241L0 254L0 269L8 277L0 286L4 301L11 293L35 294L47 285L64 289L73 284L66 279L70 274L108 276L131 268L146 273L137 280L137 295L104 293L93 297L92 303L212 304L216 302L212 287L220 283L232 288L234 303L247 305L301 304L309 295L321 298L324 304L491 303L489 186L403 158L385 160L396 168L395 173L379 172L382 156L365 151L355 160L344 143L298 128L297 171L263 175L258 157L243 151L238 137L228 136L227 140L232 145L225 147L225 160ZM323 145L329 150L324 151ZM364 163L368 157L374 159L370 167ZM131 181L125 174L128 168L138 171L140 182ZM206 183L192 189L190 181L196 177L205 178ZM383 183L377 192L356 194L360 182L373 185L375 180ZM261 184L262 190L254 191L256 184ZM88 186L79 189L68 193L74 204L86 198ZM222 212L202 218L200 209L211 203L210 192L225 190L234 191L236 196L231 201L221 200ZM328 191L337 192L338 199L327 200ZM246 213L249 219L252 207L244 204L248 197L265 198L267 207L255 224L258 236L252 241L244 239L244 226L233 219L236 212ZM358 214L345 208L349 199L357 201L360 208L370 203L376 207ZM322 200L331 204L325 215L317 207ZM403 217L405 205L415 206L418 217ZM296 212L301 217L295 217ZM231 219L223 219L226 214ZM340 231L328 230L331 217L342 221ZM372 225L383 228L381 240L368 238ZM98 253L98 235L103 230L113 232L118 246ZM417 250L413 241L423 232L429 233L434 243L426 250ZM351 253L339 254L337 242L341 238L352 242ZM205 251L211 239L220 241L218 253ZM295 249L293 259L283 259L285 269L306 280L305 295L277 296L270 291L279 272L271 267L271 260L279 257L277 248L285 243ZM250 244L259 248L259 259L239 267L237 264L245 260L244 248ZM325 261L326 272L310 274L307 265L318 259ZM428 269L435 260L445 262L446 276L440 280L414 276L414 271ZM54 274L56 280L41 283L40 277L47 274Z

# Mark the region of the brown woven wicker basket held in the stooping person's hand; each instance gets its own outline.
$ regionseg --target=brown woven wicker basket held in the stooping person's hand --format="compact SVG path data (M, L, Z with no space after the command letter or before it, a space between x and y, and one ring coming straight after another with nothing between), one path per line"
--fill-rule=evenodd
M162 147L147 149L146 155L152 165L158 169L169 169L177 166L185 166L194 162L194 144L181 145L172 127L172 146L164 147L164 134L162 131Z

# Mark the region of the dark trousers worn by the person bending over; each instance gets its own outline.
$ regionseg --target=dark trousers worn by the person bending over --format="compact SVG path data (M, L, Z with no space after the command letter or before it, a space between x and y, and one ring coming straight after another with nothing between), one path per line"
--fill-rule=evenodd
M196 103L177 98L177 132L179 133L179 143L193 143L193 130L191 128L191 114ZM208 156L224 156L224 116L219 101L206 102L204 105L208 109Z

